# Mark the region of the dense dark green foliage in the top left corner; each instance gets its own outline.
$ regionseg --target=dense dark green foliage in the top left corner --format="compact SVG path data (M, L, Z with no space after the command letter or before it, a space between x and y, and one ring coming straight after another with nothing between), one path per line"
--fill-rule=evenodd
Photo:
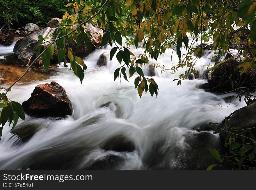
M0 0L0 28L19 28L26 23L45 25L53 17L62 17L59 12L69 0Z

